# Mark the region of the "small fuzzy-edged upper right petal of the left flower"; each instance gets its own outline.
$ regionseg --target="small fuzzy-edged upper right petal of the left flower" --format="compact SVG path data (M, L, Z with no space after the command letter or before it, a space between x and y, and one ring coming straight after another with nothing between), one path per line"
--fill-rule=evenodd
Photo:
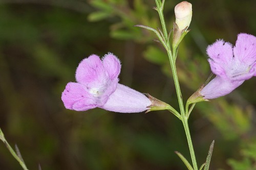
M103 65L106 70L106 74L109 76L111 80L116 79L120 74L120 70L121 70L120 61L112 53L109 53L104 56Z

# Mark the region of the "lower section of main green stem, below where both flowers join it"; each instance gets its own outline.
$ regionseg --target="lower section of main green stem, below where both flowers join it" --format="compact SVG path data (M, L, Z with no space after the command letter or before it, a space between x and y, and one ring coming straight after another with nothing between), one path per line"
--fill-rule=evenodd
M193 143L192 143L191 136L190 136L187 119L183 119L182 123L183 123L183 127L185 129L185 133L186 133L186 137L187 137L187 143L188 143L188 148L189 148L189 151L190 151L190 156L191 156L191 159L192 159L194 170L198 170L197 159L196 159Z

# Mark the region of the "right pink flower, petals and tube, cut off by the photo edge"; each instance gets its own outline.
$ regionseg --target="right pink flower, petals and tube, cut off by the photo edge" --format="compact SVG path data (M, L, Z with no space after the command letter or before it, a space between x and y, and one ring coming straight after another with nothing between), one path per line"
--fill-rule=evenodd
M201 90L204 99L226 95L256 76L255 44L255 36L241 33L234 47L223 40L207 47L211 71L217 76Z

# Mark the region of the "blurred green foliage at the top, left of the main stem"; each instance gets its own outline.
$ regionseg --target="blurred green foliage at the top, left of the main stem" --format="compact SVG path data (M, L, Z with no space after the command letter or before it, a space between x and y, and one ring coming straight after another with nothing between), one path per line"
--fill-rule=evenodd
M137 23L142 25L157 26L157 16L148 17L148 6L141 0L134 2L134 8L129 6L127 1L90 1L90 4L97 8L96 12L92 12L88 19L91 21L99 21L105 18L115 18L116 22L111 26L110 35L116 39L145 42L153 36L150 32L143 32L134 26ZM145 36L146 34L146 36Z

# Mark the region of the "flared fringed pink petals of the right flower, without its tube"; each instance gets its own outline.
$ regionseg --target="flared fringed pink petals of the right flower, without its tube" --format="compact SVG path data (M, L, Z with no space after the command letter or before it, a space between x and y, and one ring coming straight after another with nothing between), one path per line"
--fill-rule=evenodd
M217 40L209 45L207 54L212 72L230 81L247 80L254 73L255 37L249 34L239 34L236 46L223 40Z

